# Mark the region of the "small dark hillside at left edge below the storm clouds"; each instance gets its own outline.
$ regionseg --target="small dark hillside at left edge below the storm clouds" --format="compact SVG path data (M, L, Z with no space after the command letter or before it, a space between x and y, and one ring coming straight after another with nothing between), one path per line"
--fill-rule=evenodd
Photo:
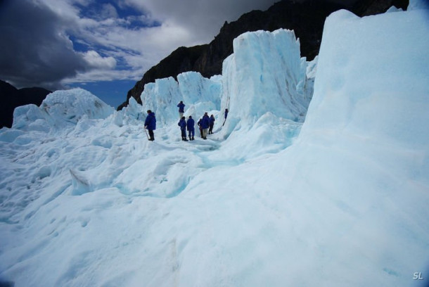
M13 110L16 107L33 103L40 106L51 91L43 88L16 89L11 84L0 80L0 128L12 127Z

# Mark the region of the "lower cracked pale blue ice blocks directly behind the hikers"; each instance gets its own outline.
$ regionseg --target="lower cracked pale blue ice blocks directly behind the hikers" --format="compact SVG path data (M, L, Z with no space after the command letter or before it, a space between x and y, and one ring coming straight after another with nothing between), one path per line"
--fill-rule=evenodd
M177 104L184 101L185 115L201 117L210 110L219 110L220 76L207 79L198 72L184 72L173 77L156 79L145 85L141 94L144 110L152 110L157 125L165 127L179 119Z

